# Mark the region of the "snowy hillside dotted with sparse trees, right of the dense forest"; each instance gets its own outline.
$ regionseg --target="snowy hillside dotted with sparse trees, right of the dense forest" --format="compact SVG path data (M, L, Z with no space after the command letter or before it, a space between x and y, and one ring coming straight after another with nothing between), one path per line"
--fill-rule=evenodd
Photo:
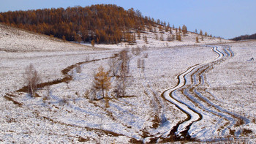
M118 45L95 45L95 47L99 48L136 48L136 47L146 47L146 48L162 48L162 47L173 47L173 46L184 46L184 45L207 45L207 44L214 44L214 43L226 43L232 42L227 39L220 39L217 37L205 37L201 36L200 34L195 34L193 32L188 31L187 34L183 35L181 32L176 29L172 29L172 34L166 31L159 31L159 27L155 27L156 32L143 31L140 33L140 38L138 37L138 33L136 35L136 43L129 45L127 42L121 42ZM132 31L134 34L134 31ZM181 41L176 40L176 35L181 35ZM143 37L147 37L147 42ZM173 36L173 37L172 37ZM162 37L162 39L161 39ZM198 37L198 42L196 42L196 37ZM203 37L203 38L202 38ZM171 40L169 40L171 39ZM88 44L87 44L88 45Z

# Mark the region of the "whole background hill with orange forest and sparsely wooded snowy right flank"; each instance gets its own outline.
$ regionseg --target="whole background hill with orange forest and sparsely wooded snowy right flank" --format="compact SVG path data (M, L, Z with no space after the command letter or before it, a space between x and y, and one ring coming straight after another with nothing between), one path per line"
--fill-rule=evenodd
M189 32L185 25L182 29L180 26L170 27L170 23L143 16L139 10L124 10L113 4L1 12L0 23L71 42L98 45L122 42L135 45L138 40L145 39L145 35L161 41L160 43L175 40L181 42L188 39L187 35L193 36L189 40L192 43L195 43L196 37L200 42L205 39L214 39L214 43L219 42L219 39L210 37L207 33L199 35Z

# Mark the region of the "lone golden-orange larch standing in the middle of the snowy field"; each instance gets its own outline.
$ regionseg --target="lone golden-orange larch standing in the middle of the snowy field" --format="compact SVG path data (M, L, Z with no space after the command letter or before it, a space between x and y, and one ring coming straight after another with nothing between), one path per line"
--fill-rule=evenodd
M97 74L94 75L94 88L102 91L103 98L104 91L108 91L111 88L108 72L105 72L102 66L99 67Z

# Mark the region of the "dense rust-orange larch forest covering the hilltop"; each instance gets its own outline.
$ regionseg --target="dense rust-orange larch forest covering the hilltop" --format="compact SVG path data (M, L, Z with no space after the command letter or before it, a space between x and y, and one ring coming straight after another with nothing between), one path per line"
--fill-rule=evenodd
M1 12L0 22L68 41L106 44L126 41L130 31L162 23L144 17L139 10L124 10L113 4Z

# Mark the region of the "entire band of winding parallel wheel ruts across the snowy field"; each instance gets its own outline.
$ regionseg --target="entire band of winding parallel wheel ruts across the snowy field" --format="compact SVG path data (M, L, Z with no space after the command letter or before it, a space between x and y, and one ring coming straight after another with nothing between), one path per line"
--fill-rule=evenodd
M214 128L209 132L214 134L218 132L220 135L227 133L228 129L232 126L240 126L248 121L239 115L231 113L225 110L219 105L215 105L206 96L206 88L208 83L206 82L206 72L214 68L214 65L225 61L227 58L232 58L234 56L233 51L228 46L223 46L222 50L219 48L213 48L214 53L217 53L218 57L214 61L210 61L203 64L196 64L189 67L187 71L178 75L178 83L175 87L167 89L162 93L162 97L167 100L167 102L176 105L179 110L187 115L184 121L180 121L176 126L173 126L165 134L162 134L158 138L162 139L163 142L178 141L178 140L189 140L195 141L195 137L198 133L202 133L202 129L193 129L195 132L189 132L192 125L195 122L202 120L206 115L213 116L222 120L221 124L218 121Z

